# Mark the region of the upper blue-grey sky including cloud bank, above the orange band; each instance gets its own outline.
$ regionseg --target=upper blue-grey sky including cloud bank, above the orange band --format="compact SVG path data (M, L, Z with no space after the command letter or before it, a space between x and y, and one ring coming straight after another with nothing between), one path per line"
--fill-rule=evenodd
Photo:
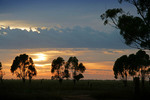
M0 48L125 49L119 31L100 18L118 7L134 12L117 0L0 0Z

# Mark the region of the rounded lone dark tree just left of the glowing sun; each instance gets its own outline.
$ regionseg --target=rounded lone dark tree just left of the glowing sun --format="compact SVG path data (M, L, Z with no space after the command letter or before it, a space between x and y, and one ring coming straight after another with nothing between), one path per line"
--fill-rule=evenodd
M10 70L17 77L22 78L23 82L26 77L29 77L29 82L31 82L32 77L37 74L32 58L26 54L17 56Z

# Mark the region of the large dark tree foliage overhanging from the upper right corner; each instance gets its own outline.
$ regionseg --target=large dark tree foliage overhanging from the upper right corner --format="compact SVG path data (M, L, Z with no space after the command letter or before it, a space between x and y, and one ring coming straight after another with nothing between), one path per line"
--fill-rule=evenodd
M120 30L125 44L138 49L150 50L150 0L118 0L135 6L138 16L121 8L108 9L101 15L104 25L109 24Z

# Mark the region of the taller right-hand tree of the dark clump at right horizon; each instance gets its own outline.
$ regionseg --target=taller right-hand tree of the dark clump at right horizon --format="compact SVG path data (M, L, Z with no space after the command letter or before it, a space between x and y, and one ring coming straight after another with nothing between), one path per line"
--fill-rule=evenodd
M135 55L128 57L129 74L134 77L141 77L142 86L144 86L147 70L150 66L149 55L145 51L139 50Z

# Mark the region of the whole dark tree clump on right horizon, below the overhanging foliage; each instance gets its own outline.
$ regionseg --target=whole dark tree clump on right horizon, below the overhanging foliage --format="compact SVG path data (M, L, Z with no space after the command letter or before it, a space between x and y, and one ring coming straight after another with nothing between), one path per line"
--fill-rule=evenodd
M113 71L115 78L120 76L127 84L127 76L133 77L135 83L135 93L139 94L140 79L142 87L145 86L145 78L149 77L150 57L145 51L139 50L136 54L123 55L115 61Z

